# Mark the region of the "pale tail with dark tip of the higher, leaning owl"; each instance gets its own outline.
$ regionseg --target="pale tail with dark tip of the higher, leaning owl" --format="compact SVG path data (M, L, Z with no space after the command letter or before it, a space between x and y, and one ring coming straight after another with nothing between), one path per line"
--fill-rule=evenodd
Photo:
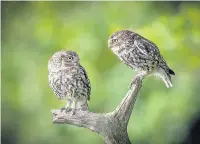
M165 69L163 69L162 67L159 67L156 75L162 78L167 88L173 87L173 84L171 81L171 75L175 75L173 70L171 70L168 67L166 67Z

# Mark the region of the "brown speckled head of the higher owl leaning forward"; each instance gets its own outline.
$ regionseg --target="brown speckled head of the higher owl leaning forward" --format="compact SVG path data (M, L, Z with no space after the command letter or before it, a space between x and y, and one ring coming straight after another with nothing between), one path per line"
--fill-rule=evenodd
M129 30L120 30L113 33L108 39L108 47L111 49L120 48L133 38L134 32Z

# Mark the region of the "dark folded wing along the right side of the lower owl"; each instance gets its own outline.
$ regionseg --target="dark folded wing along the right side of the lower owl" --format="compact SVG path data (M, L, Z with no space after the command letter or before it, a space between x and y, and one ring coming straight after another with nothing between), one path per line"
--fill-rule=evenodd
M84 88L86 89L87 93L87 100L90 100L90 93L91 93L91 85L90 85L90 80L88 79L87 73L85 69L80 65L80 76L81 80L84 83Z

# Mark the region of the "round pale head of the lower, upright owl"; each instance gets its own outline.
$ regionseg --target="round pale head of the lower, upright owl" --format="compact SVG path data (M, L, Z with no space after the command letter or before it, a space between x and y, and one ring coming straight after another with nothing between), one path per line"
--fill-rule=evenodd
M48 70L56 72L61 68L79 65L79 56L75 51L61 50L53 54L48 62Z

